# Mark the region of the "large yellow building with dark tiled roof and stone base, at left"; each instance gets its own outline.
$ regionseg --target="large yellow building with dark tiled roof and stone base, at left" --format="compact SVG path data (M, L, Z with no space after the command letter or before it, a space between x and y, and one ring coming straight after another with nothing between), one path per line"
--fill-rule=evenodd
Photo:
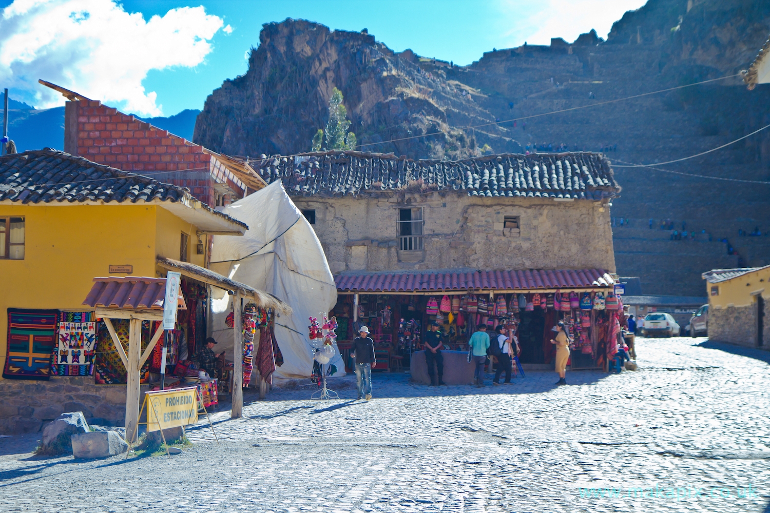
M82 301L93 278L165 276L159 257L207 267L211 235L246 229L186 188L85 158L50 148L0 157L0 333L9 337L0 343L0 432L37 431L61 410L45 400L52 394L39 355L17 356L8 367L9 309L92 310ZM27 406L14 400L24 383L35 383L39 395ZM119 417L115 408L83 399L93 395L93 384L93 377L75 379L80 391L59 402L68 411L87 409L86 416ZM125 404L125 387L113 399L112 406Z

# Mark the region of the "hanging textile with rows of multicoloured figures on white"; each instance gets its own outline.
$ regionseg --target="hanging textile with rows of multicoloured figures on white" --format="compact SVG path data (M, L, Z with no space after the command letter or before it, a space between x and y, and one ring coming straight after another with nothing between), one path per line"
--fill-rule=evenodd
M51 374L56 376L90 376L96 351L96 316L92 311L59 313L57 345L54 348Z

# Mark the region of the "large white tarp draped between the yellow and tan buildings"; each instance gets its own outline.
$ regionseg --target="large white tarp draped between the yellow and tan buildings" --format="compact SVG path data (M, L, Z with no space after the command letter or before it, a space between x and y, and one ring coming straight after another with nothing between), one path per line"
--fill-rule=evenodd
M325 314L336 304L336 285L321 243L305 216L283 190L280 180L246 196L223 212L249 225L243 237L216 235L211 268L221 275L267 291L293 308L292 315L276 317L275 334L283 355L283 365L273 377L306 378L313 372L313 353L323 343L310 341L309 317ZM213 298L214 331L218 341L232 348L232 329L226 328L229 298L220 291ZM219 332L219 333L218 333ZM228 351L228 357L232 353ZM256 369L256 348L254 351ZM330 361L336 376L345 375L340 351Z

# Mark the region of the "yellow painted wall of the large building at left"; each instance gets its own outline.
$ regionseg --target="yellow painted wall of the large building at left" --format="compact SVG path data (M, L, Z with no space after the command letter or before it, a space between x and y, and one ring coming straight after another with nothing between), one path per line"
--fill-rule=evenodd
M204 264L197 228L156 205L0 205L4 216L25 218L25 258L0 259L0 368L7 308L82 308L93 278L110 276L109 265L158 276L156 255L178 259L182 231L190 234L192 263Z

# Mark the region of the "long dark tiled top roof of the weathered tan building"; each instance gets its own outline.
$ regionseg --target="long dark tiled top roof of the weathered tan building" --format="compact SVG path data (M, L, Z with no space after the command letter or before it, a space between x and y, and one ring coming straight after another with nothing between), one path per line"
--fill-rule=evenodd
M460 161L411 160L392 153L318 152L249 162L290 195L357 195L405 189L473 196L578 198L617 196L610 162L600 153L487 155Z

